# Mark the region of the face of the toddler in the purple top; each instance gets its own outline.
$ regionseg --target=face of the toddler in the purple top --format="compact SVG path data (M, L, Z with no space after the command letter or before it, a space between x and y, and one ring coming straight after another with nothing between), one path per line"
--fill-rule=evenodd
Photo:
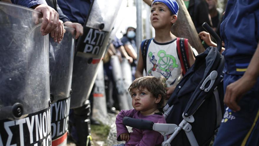
M140 113L145 114L150 109L157 108L160 98L155 98L146 88L134 88L131 92L132 106Z

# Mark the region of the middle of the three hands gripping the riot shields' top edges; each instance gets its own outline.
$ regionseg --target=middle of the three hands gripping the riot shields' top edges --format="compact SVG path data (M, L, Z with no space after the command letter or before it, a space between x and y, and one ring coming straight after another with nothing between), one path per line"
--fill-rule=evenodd
M56 27L56 29L52 30L50 36L54 38L55 42L60 43L60 41L63 39L65 33L64 24L62 20L59 20L59 25Z

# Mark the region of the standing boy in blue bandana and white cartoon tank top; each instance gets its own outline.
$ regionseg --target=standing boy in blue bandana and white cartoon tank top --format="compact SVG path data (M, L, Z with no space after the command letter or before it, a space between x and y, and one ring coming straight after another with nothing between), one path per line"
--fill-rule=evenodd
M170 31L177 20L178 9L175 0L154 0L151 5L150 21L155 29L155 37L150 41L146 52L146 72L148 76L166 78L167 99L182 77L182 66L177 54L177 37ZM187 58L189 65L192 66L195 61L192 47L187 41L186 45L188 45ZM136 78L143 76L144 63L140 49Z

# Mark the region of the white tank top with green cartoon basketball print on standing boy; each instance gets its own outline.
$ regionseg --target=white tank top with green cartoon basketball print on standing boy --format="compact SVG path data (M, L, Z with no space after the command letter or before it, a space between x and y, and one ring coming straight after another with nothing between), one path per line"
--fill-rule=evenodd
M167 87L177 85L182 78L182 68L176 47L176 39L166 43L159 43L152 39L146 58L147 76L164 76Z

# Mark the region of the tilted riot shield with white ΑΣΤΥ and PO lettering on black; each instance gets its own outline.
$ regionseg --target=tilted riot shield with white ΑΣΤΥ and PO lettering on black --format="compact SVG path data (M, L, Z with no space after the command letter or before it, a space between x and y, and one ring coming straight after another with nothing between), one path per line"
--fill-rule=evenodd
M97 68L102 60L122 0L95 0L79 38L74 59L70 108L78 108L88 99Z

